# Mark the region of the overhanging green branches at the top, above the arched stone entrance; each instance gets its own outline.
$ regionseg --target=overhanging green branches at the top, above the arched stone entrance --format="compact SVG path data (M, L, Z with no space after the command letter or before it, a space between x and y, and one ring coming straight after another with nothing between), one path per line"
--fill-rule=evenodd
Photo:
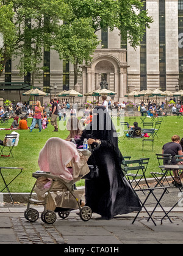
M95 32L100 29L113 31L115 27L132 47L140 44L145 28L152 23L140 0L68 0L74 18L91 18Z

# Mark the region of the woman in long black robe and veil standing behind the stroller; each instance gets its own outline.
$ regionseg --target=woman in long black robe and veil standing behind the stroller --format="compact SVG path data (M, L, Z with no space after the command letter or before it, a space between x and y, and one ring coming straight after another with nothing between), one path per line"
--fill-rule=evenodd
M139 199L121 170L123 156L118 148L117 131L105 107L93 110L92 122L83 131L81 144L85 138L88 144L94 140L101 143L92 153L99 177L85 180L85 205L105 219L140 210Z

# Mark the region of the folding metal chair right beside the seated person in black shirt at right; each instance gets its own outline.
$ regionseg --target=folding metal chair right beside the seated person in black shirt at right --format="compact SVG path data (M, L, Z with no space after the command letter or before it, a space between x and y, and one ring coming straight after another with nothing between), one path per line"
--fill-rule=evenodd
M171 154L156 154L156 158L157 158L159 166L162 166L162 164L165 161L167 161L168 164L170 164L170 162L171 162ZM156 186L158 186L158 185L164 186L163 185L164 181L167 181L168 186L170 186L170 183L168 182L167 177L164 177L165 169L163 169L163 168L160 168L160 169L161 169L161 172L150 172L152 177L157 182Z

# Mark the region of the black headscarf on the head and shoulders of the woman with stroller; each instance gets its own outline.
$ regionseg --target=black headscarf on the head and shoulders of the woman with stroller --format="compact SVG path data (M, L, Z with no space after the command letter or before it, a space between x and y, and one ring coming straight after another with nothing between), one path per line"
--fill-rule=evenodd
M101 141L110 142L117 153L118 160L120 160L120 162L124 160L120 149L118 148L117 131L104 106L96 106L96 108L93 109L93 119L83 131L82 138L99 139Z

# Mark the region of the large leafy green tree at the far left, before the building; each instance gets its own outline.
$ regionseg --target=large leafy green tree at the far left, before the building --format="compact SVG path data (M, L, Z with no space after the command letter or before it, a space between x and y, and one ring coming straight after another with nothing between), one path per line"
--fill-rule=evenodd
M10 0L5 1L4 7L10 5L12 6ZM70 16L70 9L64 0L13 0L12 7L14 15L10 21L16 27L16 40L11 47L11 54L20 56L20 73L26 75L30 72L34 86L35 74L43 70L40 65L43 48L51 47L60 20L66 20ZM2 34L4 29L5 26L1 29ZM8 42L4 44L4 56L7 45Z

